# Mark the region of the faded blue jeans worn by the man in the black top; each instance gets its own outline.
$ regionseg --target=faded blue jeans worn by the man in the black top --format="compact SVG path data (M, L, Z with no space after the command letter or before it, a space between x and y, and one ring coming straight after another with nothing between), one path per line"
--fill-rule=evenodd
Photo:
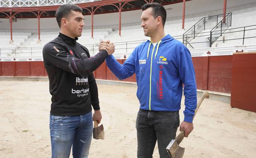
M88 158L92 141L92 112L78 116L50 114L52 158Z

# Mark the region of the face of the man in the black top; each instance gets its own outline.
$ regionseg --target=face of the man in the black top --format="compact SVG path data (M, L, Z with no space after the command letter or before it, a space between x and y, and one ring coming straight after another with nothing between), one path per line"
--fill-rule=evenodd
M78 11L71 11L71 14L67 18L67 30L72 37L81 37L83 26L83 14Z

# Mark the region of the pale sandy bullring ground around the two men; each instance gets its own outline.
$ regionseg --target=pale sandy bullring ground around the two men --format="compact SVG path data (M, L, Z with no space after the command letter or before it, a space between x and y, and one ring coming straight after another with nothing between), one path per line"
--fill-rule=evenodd
M99 84L98 89L105 140L92 140L89 157L136 158L136 88ZM50 99L46 81L0 81L0 158L51 157ZM184 98L181 121L183 110ZM256 113L205 99L194 131L180 146L184 158L255 158ZM157 146L153 157L159 158Z

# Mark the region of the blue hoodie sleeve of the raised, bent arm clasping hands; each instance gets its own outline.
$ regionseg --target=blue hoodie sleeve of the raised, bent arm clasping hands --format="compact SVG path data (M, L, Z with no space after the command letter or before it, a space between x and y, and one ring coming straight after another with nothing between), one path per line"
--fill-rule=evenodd
M134 52L129 55L124 64L120 64L113 55L109 55L106 58L106 64L119 80L129 78L135 73Z

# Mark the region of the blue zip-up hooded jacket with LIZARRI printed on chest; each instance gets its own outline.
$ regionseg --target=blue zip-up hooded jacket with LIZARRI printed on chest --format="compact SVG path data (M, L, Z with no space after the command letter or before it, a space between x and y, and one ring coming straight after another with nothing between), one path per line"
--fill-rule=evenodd
M196 77L189 50L171 35L156 46L148 40L129 55L124 64L113 55L106 58L108 68L123 80L136 73L140 108L152 111L178 111L184 84L184 121L192 122L196 109Z

